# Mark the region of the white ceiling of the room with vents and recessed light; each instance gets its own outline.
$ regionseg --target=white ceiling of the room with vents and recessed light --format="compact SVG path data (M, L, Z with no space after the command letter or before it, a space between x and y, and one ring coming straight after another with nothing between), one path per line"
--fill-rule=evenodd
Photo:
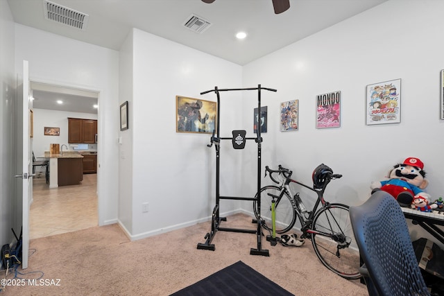
M14 20L74 40L119 51L131 28L245 65L387 0L290 0L275 15L272 0L51 0L89 15L84 30L44 17L44 0L8 0ZM203 33L184 26L194 14ZM237 40L238 31L247 33ZM42 98L43 100L43 98Z

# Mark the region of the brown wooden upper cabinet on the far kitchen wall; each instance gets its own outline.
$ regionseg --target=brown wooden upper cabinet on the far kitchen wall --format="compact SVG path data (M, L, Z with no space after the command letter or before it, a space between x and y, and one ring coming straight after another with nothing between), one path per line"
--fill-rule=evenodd
M68 118L68 143L96 143L96 139L95 119Z

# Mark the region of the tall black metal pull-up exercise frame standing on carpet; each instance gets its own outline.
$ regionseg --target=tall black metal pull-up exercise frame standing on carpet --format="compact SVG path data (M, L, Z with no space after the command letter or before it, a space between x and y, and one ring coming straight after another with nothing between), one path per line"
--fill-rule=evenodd
M216 206L213 209L212 213L212 225L211 225L211 232L207 233L205 235L205 243L198 243L197 248L203 249L203 250L215 250L214 244L212 244L212 240L214 238L214 235L216 232L223 231L223 232L242 232L242 233L248 233L248 234L256 234L257 235L257 248L254 249L253 247L250 249L250 255L262 255L262 256L270 256L268 253L268 250L262 250L262 224L260 223L261 217L261 200L260 200L260 191L261 191L261 149L262 149L262 137L261 137L261 128L260 125L257 126L256 135L257 137L246 137L246 140L254 139L257 143L257 212L259 213L259 216L257 217L256 223L257 223L257 229L237 229L237 228L225 228L220 227L221 221L226 221L226 217L220 217L219 216L219 202L220 200L255 200L255 198L241 198L241 197L233 197L233 196L221 196L219 194L219 171L220 171L220 141L221 140L232 140L233 138L222 138L220 137L220 119L221 119L221 110L220 110L220 96L219 92L230 92L230 91L239 91L239 90L257 90L257 112L260 118L261 114L261 90L265 89L271 92L276 92L276 89L269 89L266 87L261 87L261 85L257 85L257 87L253 88L245 88L245 89L218 89L217 87L214 87L212 90L208 90L206 92L201 92L200 94L207 94L209 92L215 92L217 96L217 123L216 123L216 137L214 137L214 131L211 138L211 144L208 145L211 147L214 143L214 148L216 148ZM234 137L234 134L233 134Z

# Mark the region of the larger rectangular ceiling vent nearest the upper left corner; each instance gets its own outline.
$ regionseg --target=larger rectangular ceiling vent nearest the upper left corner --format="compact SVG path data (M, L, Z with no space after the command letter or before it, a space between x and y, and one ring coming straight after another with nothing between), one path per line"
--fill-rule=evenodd
M60 24L85 31L89 15L74 9L61 6L51 1L43 0L44 18L57 21Z

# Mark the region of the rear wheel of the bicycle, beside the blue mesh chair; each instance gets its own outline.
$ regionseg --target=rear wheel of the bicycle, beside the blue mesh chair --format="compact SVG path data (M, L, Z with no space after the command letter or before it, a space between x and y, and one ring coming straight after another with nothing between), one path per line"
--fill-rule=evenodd
M359 279L360 257L348 206L330 204L314 215L311 243L323 265L345 279Z

